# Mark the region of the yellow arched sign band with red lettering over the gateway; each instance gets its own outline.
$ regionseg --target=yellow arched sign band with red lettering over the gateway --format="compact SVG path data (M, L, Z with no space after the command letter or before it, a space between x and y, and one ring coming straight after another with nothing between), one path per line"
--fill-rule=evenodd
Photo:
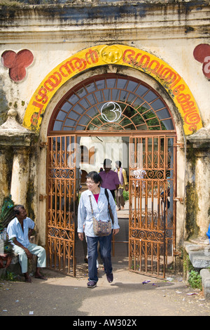
M48 103L66 81L91 67L108 64L133 67L159 81L172 97L181 114L186 136L202 128L200 111L193 94L180 75L160 58L138 48L124 45L101 45L87 48L57 65L43 79L32 96L25 112L23 125L32 131L39 131Z

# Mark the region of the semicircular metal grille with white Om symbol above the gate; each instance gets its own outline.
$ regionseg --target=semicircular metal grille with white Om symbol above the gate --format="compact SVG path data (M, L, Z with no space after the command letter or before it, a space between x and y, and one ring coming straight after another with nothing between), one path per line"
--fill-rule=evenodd
M50 131L171 131L172 115L160 95L138 79L93 77L71 89L52 115Z

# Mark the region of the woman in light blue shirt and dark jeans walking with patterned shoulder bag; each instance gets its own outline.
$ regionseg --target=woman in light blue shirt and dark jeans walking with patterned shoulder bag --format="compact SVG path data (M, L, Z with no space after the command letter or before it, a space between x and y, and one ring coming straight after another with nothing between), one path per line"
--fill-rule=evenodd
M108 236L94 235L93 216L96 220L110 220L108 200L105 189L101 187L102 178L99 173L92 171L86 176L87 190L82 192L78 206L78 237L81 241L84 239L84 232L87 237L88 254L88 288L94 288L97 285L97 246L100 244L100 253L104 263L106 278L109 283L113 282L113 272L111 263L111 237L119 232L118 216L116 204L109 190L109 204L113 213L112 232ZM85 228L85 229L84 229Z

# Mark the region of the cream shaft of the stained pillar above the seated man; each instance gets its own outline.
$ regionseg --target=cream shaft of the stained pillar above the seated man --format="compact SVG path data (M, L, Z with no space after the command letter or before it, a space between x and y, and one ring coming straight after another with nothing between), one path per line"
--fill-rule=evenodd
M29 183L29 148L14 147L10 193L15 204L26 204Z

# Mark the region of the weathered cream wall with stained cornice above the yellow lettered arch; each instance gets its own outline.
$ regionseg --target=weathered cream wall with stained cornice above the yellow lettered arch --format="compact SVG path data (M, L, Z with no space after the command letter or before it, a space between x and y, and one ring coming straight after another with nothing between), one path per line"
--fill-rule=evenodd
M1 8L1 54L27 48L34 55L18 84L1 67L1 91L6 93L7 106L18 108L20 119L36 86L62 60L97 44L122 43L172 65L195 95L204 124L209 124L209 86L201 63L193 57L197 44L208 44L209 6L119 2Z

